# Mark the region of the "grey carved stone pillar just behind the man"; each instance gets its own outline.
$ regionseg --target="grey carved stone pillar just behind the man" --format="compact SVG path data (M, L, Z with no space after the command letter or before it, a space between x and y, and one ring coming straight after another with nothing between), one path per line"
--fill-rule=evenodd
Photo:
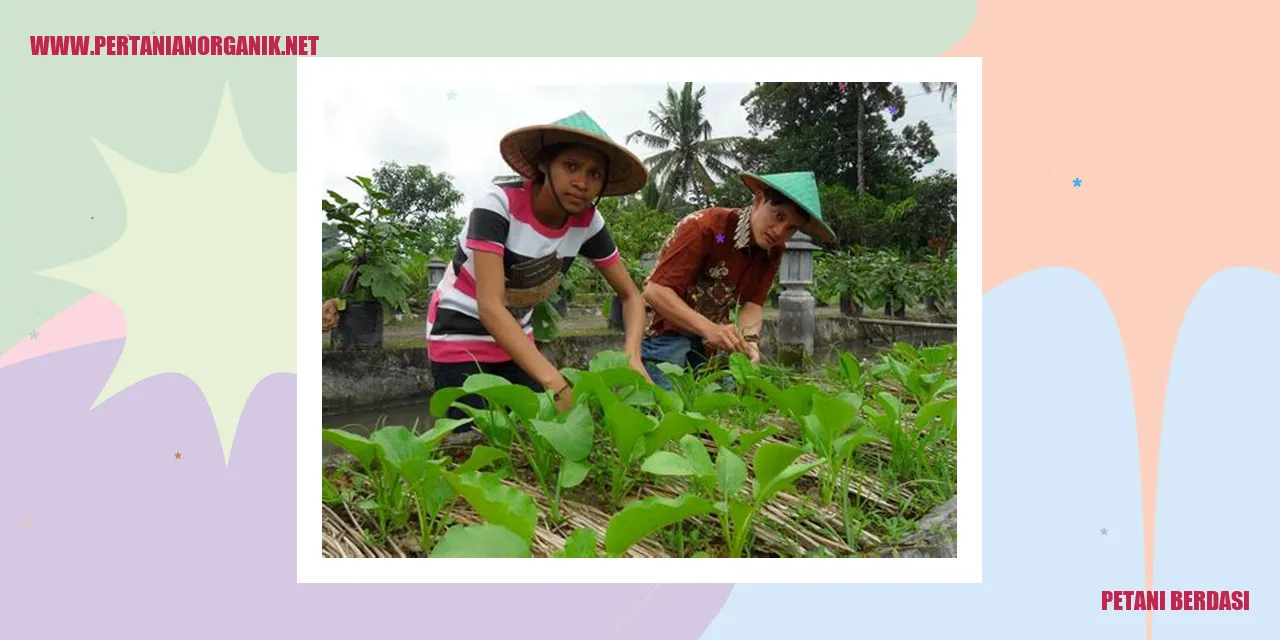
M818 246L809 241L809 236L796 232L787 241L782 268L778 269L778 280L783 287L778 296L778 361L788 366L813 356L817 316L809 287L813 284L813 252L818 251Z

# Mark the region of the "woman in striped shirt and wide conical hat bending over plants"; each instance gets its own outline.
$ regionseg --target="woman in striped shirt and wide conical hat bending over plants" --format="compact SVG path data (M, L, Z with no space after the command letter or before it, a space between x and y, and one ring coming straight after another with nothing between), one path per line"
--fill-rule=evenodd
M572 389L534 343L534 308L559 287L575 257L590 260L622 300L626 352L640 360L645 303L595 205L644 188L649 172L585 113L502 138L503 160L525 178L493 186L471 210L453 260L428 307L426 344L436 389L488 372L535 392L558 411ZM483 407L479 396L463 397ZM449 417L465 417L453 408Z

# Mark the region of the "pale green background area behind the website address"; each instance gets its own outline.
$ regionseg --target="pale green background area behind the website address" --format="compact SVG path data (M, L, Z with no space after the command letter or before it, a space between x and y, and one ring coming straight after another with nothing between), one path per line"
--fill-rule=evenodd
M0 352L90 293L37 271L99 253L125 232L123 195L93 140L140 166L183 172L204 151L229 86L256 161L269 172L296 170L293 58L33 56L29 36L315 35L320 56L934 56L968 32L977 13L975 0L800 1L785 10L758 1L621 6L634 10L508 1L357 8L233 0L216 9L6 3ZM540 72L554 79L554 67ZM292 220L294 211L280 215ZM294 297L292 289L275 293ZM129 310L123 312L128 321ZM278 338L282 349L293 351L293 335Z

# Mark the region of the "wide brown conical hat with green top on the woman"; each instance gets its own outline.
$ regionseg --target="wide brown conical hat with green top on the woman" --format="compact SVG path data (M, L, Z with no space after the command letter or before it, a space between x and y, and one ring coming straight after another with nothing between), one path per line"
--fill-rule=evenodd
M586 111L561 118L550 124L521 127L502 137L498 148L502 159L516 173L534 179L543 147L561 142L588 145L600 150L609 159L609 182L602 196L626 196L644 188L649 170L627 147L613 142Z

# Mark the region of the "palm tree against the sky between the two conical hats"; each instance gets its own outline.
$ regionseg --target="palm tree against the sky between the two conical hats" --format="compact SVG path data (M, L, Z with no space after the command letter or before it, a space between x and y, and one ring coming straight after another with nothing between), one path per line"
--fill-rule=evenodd
M739 138L713 138L712 125L703 118L703 96L707 87L694 92L694 83L676 90L667 87L667 97L658 104L658 111L649 111L649 122L655 133L636 129L626 141L639 138L645 146L663 151L645 159L645 164L662 183L659 209L676 197L699 197L703 205L716 189L716 180L733 174L728 163L736 160L733 147Z

